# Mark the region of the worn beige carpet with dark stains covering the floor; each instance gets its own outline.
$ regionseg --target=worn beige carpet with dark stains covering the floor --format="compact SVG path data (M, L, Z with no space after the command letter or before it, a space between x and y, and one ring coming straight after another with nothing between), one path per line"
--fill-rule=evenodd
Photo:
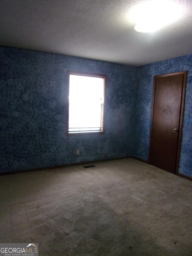
M192 255L192 182L132 158L0 176L0 242L40 256Z

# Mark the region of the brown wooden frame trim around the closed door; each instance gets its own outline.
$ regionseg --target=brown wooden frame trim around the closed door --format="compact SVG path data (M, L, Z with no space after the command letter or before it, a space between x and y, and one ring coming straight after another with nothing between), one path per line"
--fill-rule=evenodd
M178 75L183 74L183 86L182 86L182 97L181 97L182 99L181 99L181 108L180 108L180 116L179 116L179 137L178 137L178 143L177 143L176 169L175 169L176 175L178 175L178 172L179 172L179 157L180 157L180 149L181 149L182 122L183 122L183 110L184 110L184 98L185 98L185 86L186 86L187 71L180 71L180 72L175 72L175 73L170 73L170 74L162 74L162 75L157 75L157 76L153 77L152 112L151 112L151 125L150 125L150 137L149 137L149 153L148 153L148 163L150 164L156 78L174 76L177 74Z

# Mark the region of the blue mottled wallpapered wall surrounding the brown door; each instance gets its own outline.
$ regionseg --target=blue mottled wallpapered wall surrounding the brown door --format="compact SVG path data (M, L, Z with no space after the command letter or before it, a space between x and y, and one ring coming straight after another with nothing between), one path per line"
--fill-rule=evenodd
M192 55L137 68L135 90L135 140L133 155L147 161L152 108L153 76L187 70L179 173L192 177Z

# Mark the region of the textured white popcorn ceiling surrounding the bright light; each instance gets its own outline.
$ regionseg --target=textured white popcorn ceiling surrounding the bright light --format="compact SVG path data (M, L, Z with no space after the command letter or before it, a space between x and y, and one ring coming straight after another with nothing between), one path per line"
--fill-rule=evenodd
M192 0L172 0L182 17L152 33L129 20L140 2L0 0L0 45L132 66L191 54Z

